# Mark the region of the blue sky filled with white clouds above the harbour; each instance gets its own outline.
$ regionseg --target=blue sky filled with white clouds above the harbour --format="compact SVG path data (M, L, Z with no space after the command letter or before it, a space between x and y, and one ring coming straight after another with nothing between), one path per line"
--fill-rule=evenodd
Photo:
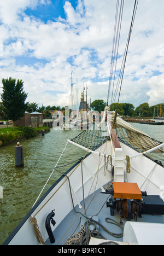
M125 0L117 72L133 6ZM116 0L1 0L0 80L22 79L27 101L65 107L73 72L78 99L87 84L88 100L107 102L115 9ZM139 0L120 103L164 103L163 10L163 0Z

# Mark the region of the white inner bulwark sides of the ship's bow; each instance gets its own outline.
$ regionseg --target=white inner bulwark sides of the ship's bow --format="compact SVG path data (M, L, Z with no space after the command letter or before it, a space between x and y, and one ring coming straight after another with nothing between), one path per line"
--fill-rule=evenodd
M140 155L131 159L131 172L126 173L126 155L134 156L138 153L136 150L121 143L121 147L124 153L124 179L125 182L137 183L141 190L147 191L148 195L160 195L160 187L163 185L164 172L163 167L156 164L153 160L147 158L147 156ZM101 189L104 191L103 186L109 181L113 180L112 173L104 172L104 154L111 155L112 147L110 141L104 143L95 152L90 153L83 160L83 183L85 197L91 195L95 190ZM81 183L81 162L77 163L72 170L67 173L71 184L72 197L74 206L77 206L79 211L81 202L83 202L83 186ZM105 206L106 207L106 206ZM73 210L72 200L70 196L70 189L68 178L62 176L46 193L39 202L34 205L30 213L27 214L22 223L14 230L4 244L8 245L40 245L37 240L36 232L34 231L31 223L32 217L37 219L40 233L42 234L44 241L49 241L48 233L45 229L45 219L48 214L55 209L55 227L51 225L52 231L59 228L63 219L67 214ZM98 209L97 209L98 211ZM110 210L108 210L110 212ZM146 222L149 222L147 220ZM154 223L156 223L156 217L154 216ZM164 232L163 222L164 217L161 216L157 222L161 223L162 231ZM132 221L133 223L133 221ZM70 223L71 224L71 223ZM162 233L161 233L162 234ZM66 237L67 238L67 237ZM155 238L154 238L155 239ZM66 239L65 239L66 240ZM154 240L155 241L155 240ZM129 242L129 241L124 241ZM163 242L164 243L164 242ZM56 243L55 243L56 244ZM60 244L60 243L59 243Z

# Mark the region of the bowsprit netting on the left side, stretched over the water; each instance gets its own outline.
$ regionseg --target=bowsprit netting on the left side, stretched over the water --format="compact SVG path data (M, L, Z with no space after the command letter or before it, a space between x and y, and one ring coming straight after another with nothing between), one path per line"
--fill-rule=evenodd
M91 150L95 150L97 147L101 146L103 143L108 141L109 136L106 136L106 132L103 130L85 130L81 132L78 136L71 139L71 141Z

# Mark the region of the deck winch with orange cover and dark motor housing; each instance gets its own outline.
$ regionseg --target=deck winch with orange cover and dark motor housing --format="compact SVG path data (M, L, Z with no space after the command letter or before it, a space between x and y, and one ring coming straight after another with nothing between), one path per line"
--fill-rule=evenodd
M137 183L113 182L106 194L111 194L107 202L111 216L114 211L120 213L120 219L142 218L142 214L164 214L164 202L158 195L148 195L146 191L140 191ZM142 197L145 196L143 199Z

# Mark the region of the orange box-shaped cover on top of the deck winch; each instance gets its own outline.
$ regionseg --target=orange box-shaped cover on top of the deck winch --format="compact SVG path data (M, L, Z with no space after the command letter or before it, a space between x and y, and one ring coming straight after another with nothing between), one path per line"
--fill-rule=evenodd
M142 199L137 183L113 182L113 188L116 199Z

